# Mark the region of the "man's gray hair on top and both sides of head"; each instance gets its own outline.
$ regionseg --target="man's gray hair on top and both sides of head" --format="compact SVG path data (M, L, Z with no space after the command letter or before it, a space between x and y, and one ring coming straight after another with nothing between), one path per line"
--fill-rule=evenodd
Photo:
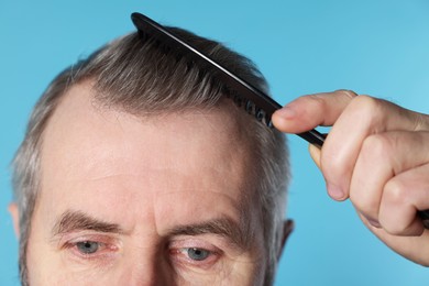
M261 90L267 85L256 67L222 44L187 31L169 28L183 38L231 69ZM185 58L178 58L153 41L142 41L138 33L123 36L101 47L87 59L61 73L36 103L24 141L13 161L14 199L20 213L20 275L28 285L26 246L31 218L37 199L43 132L68 88L86 79L94 80L97 101L129 113L151 114L184 109L211 108L228 96L226 86L209 73L202 73ZM231 100L232 102L232 100ZM244 111L243 111L244 112ZM249 116L254 152L256 196L261 201L266 262L265 285L271 285L282 244L286 188L289 178L285 138Z

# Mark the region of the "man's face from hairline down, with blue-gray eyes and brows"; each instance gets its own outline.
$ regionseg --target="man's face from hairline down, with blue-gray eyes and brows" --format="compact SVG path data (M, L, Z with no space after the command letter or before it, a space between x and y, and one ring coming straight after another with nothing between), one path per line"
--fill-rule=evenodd
M91 92L73 87L44 133L30 284L261 284L254 163L231 112L133 117Z

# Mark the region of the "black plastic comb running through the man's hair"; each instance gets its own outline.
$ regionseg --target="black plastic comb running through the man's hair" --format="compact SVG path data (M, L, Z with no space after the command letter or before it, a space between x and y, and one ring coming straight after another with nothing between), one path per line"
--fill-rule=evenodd
M217 79L228 87L230 97L238 106L243 107L245 111L253 114L262 123L272 127L271 118L274 111L282 108L275 100L152 19L141 13L132 13L131 19L145 38L153 37L155 41L163 43L164 46L166 45L174 54L186 56L193 63L197 63L198 67L212 73ZM322 146L324 142L324 135L316 130L297 135L317 146Z

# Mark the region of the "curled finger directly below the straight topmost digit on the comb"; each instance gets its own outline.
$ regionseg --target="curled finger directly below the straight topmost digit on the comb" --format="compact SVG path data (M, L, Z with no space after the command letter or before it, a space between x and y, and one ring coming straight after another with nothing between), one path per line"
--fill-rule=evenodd
M348 198L364 140L392 130L429 130L429 118L367 96L359 96L350 102L332 127L321 154L322 173L332 198Z

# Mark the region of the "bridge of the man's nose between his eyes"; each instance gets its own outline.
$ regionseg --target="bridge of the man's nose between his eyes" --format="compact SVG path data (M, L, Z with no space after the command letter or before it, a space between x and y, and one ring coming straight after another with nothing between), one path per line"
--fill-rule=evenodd
M174 270L168 263L167 253L163 249L135 249L129 284L131 286L175 285Z

